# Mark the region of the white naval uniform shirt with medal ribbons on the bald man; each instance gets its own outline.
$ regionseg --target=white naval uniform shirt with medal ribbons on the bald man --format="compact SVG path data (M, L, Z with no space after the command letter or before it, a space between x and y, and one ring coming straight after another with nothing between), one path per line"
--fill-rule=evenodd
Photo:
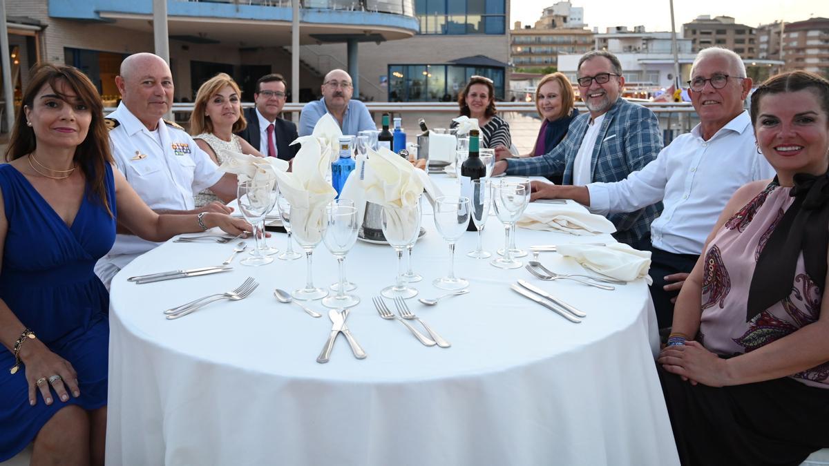
M213 186L224 174L186 131L162 119L158 129L150 131L123 102L107 118L119 122L109 131L115 165L151 209L192 210L194 193ZM135 235L116 235L112 250L99 264L109 261L123 269L157 245Z

